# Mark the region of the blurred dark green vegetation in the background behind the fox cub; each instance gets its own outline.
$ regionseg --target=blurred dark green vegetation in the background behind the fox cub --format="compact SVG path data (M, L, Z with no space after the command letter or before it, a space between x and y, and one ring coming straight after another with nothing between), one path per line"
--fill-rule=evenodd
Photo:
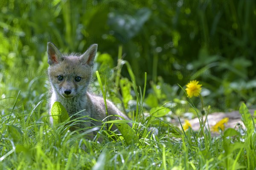
M147 73L149 108L182 105L186 96L177 84L193 79L211 111L238 109L241 102L256 107L254 0L1 0L0 11L2 99L14 101L18 91L24 103L46 98L51 41L65 53L97 43L97 69L114 68L122 46L142 89ZM121 74L131 81L127 69Z

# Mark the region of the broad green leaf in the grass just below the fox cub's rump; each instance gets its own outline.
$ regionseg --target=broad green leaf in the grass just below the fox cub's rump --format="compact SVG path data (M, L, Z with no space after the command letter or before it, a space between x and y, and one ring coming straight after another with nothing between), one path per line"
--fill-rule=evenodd
M134 130L129 125L125 123L119 123L117 128L122 133L126 144L131 144L133 141L134 143L139 142L139 136L136 135Z

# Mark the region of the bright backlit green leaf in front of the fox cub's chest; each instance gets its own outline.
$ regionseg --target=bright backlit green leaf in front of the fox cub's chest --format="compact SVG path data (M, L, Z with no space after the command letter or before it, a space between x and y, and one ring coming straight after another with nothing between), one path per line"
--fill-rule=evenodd
M60 102L54 102L51 109L53 124L64 122L69 118L67 110Z

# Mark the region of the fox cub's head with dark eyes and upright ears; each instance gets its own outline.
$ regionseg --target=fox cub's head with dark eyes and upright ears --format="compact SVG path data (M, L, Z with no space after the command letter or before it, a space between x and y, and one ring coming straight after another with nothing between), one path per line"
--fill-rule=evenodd
M81 56L66 56L52 42L47 43L49 81L55 93L66 99L86 94L97 47L91 45Z

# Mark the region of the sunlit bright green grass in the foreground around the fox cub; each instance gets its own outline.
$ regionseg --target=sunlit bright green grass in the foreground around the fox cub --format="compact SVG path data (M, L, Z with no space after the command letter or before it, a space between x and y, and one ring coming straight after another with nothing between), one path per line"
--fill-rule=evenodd
M79 123L77 120L67 119L50 126L45 100L36 101L39 99L36 98L31 108L19 106L18 101L24 97L24 93L19 91L12 100L7 96L0 100L1 106L14 101L12 107L2 109L0 117L0 168L256 169L256 162L253 161L256 160L255 119L252 119L244 104L240 107L240 113L245 128L226 129L220 136L211 136L210 129L204 125L197 132L192 128L183 130L164 119L169 112L168 103L152 108L151 116L144 115L145 86L143 92L137 87L128 62L119 58L118 63L120 69L126 65L131 86L117 88L121 89L122 94L125 91L135 93L136 107L128 113L131 118L128 122L133 123L130 131L120 130L121 134L118 134L100 127L97 136L88 140L88 131L80 133L78 130L68 130L71 125ZM99 73L97 78L100 80L98 89L101 89L104 97L109 96L111 89L104 82L106 79L102 79ZM123 79L119 72L116 82ZM125 97L122 96L122 99ZM201 119L200 116L198 119ZM125 128L125 121L106 123L116 123ZM151 127L156 127L158 133L150 132ZM102 142L97 142L99 138Z

